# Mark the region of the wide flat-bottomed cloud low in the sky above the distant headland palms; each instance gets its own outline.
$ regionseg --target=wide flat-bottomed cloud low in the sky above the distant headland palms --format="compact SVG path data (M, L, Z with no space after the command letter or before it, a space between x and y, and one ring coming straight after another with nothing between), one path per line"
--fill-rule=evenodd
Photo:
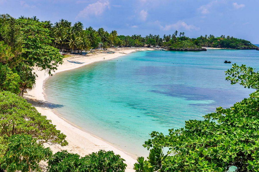
M156 22L157 23L157 22ZM172 29L181 29L184 28L185 30L199 30L200 28L192 25L192 24L186 24L184 21L179 20L178 22L174 24L166 24L165 26L160 25L161 30L172 30Z

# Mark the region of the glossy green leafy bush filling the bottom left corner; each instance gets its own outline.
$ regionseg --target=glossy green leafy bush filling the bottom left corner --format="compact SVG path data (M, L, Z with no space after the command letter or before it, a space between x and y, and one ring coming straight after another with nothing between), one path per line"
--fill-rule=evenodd
M7 172L41 171L39 162L51 155L52 151L38 144L31 135L12 135L8 138L8 149L0 164Z

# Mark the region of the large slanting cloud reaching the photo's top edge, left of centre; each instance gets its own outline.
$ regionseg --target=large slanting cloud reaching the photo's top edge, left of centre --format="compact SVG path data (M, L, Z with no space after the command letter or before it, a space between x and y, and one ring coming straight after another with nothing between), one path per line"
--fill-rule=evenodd
M92 3L87 5L82 11L80 11L76 18L88 18L89 16L100 16L104 12L106 8L109 8L109 1L97 1L96 3Z

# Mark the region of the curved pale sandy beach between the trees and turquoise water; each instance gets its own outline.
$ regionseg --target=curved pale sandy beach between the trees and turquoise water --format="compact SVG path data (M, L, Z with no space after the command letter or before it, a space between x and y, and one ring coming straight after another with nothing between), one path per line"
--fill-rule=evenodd
M55 73L62 72L65 70L71 70L75 69L93 62L98 62L101 60L109 60L113 58L117 58L119 56L123 56L126 54L123 53L131 53L136 50L153 50L153 49L148 49L148 48L124 48L124 49L112 49L112 51L116 51L113 54L109 53L98 53L96 55L92 56L70 56L68 58L63 59L63 64L58 66L58 70L56 70ZM123 52L123 53L119 53ZM74 64L70 63L67 60L73 60L73 61L80 61L80 62L85 62L84 64ZM127 164L127 169L126 171L134 171L133 166L134 163L136 163L136 159L134 158L133 155L124 152L123 150L120 150L119 148L116 148L110 143L105 142L101 138L97 138L85 131L80 130L79 128L69 124L66 122L65 119L60 118L57 116L49 107L49 102L47 102L44 98L43 94L43 84L44 81L49 77L45 71L39 71L35 70L36 74L38 75L36 79L36 84L33 90L28 91L28 93L24 94L24 98L33 106L36 107L36 109L42 114L47 116L47 119L50 119L54 125L56 125L56 128L60 130L62 133L64 133L67 137L66 140L68 141L68 146L61 147L60 145L46 145L52 149L52 151L58 152L60 150L68 150L68 152L73 152L77 153L80 156L85 156L87 154L90 154L92 152L97 152L98 150L112 150L115 152L115 154L120 154L122 158L125 159L125 163ZM54 73L54 74L55 74ZM45 164L42 164L43 171L45 171L44 167Z

